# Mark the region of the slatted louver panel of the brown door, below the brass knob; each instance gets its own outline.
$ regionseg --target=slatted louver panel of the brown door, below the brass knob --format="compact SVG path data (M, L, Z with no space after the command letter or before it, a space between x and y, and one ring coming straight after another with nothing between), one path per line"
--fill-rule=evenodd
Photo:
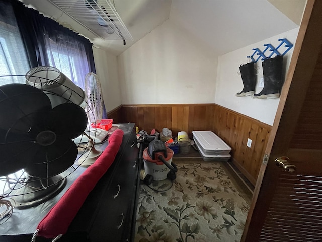
M321 176L283 172L277 183L258 241L321 241Z

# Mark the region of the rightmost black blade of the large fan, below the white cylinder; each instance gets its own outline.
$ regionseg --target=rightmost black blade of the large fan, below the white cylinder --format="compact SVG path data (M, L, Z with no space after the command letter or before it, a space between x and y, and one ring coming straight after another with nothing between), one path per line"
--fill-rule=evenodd
M82 107L64 103L52 109L55 126L52 131L60 137L74 139L81 135L87 126L87 115Z

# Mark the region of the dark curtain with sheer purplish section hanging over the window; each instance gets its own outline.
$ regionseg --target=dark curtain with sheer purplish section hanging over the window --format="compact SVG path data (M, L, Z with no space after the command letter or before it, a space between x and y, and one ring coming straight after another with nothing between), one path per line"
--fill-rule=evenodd
M13 6L30 66L54 66L84 90L86 74L96 73L90 41L18 0L5 1ZM107 118L105 106L103 113Z

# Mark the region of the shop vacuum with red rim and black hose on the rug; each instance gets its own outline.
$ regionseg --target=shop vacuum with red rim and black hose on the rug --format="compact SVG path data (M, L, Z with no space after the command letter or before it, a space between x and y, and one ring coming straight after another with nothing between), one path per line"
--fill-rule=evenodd
M176 179L178 171L172 162L173 151L160 140L152 140L143 151L144 170L141 171L141 179L147 185L153 180Z

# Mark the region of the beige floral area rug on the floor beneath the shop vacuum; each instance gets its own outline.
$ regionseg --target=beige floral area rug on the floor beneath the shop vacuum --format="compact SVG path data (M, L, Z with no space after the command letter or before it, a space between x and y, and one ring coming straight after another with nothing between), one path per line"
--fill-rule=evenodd
M134 241L240 241L249 206L223 164L177 167L173 181L141 183Z

